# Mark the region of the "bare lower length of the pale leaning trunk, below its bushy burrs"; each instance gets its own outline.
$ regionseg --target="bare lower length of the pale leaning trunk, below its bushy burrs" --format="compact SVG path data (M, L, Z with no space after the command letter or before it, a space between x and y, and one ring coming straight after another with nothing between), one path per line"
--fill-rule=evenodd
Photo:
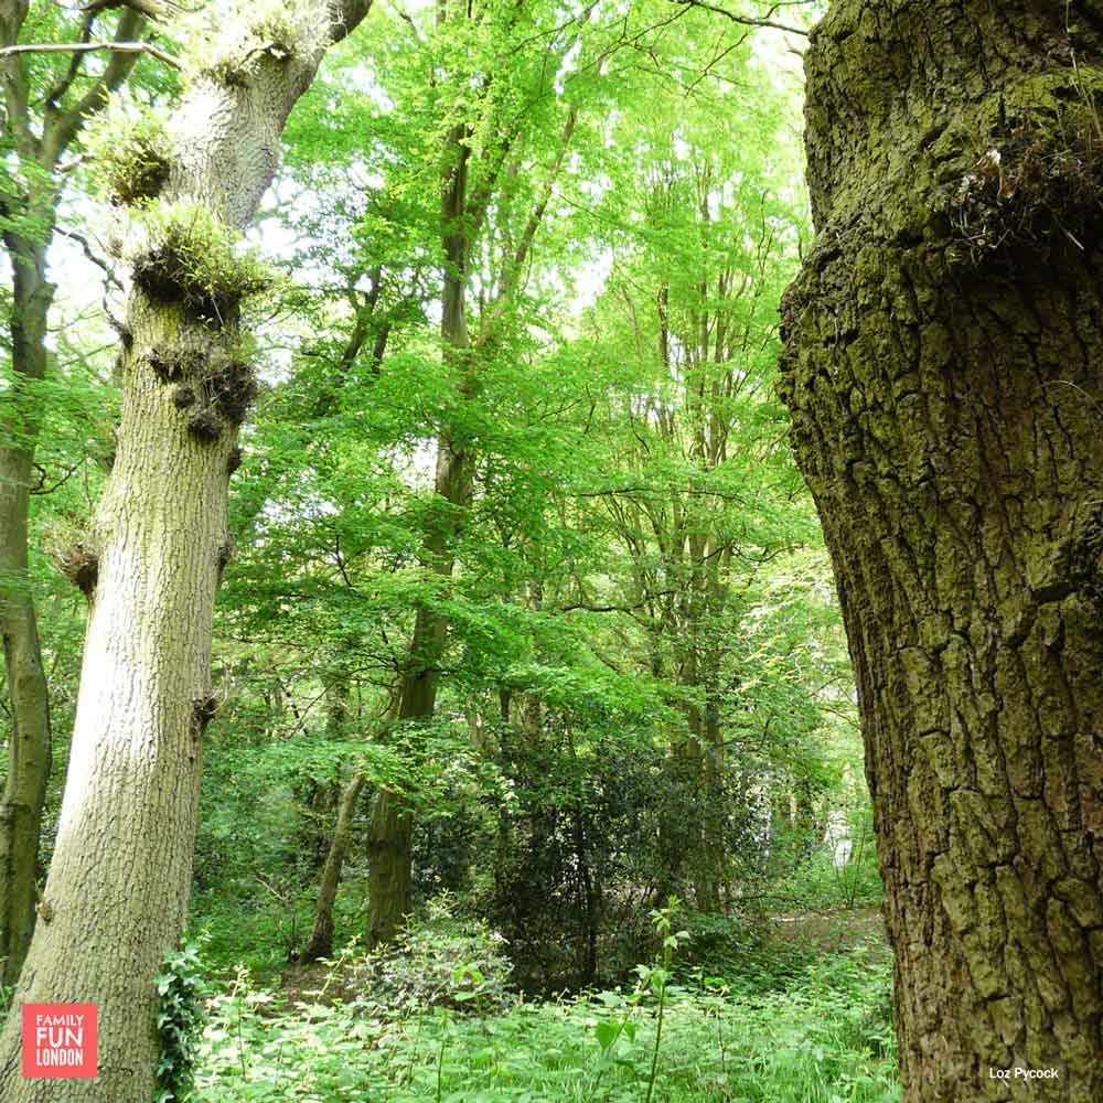
M0 1041L0 1097L141 1100L157 1063L152 977L183 929L200 735L226 540L229 437L192 438L140 355L171 349L181 313L136 301L119 451L97 516L98 572L65 797L21 1003L99 1006L99 1079L23 1080L19 1016ZM172 488L171 502L164 500ZM45 915L47 912L43 912ZM62 1085L62 1086L58 1086Z

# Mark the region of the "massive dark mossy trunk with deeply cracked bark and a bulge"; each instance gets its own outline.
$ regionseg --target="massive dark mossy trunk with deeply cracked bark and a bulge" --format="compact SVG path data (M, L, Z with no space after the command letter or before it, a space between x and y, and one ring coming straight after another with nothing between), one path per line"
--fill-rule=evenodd
M837 0L806 54L782 394L913 1103L1103 1099L1101 57L1097 3L1025 0Z

